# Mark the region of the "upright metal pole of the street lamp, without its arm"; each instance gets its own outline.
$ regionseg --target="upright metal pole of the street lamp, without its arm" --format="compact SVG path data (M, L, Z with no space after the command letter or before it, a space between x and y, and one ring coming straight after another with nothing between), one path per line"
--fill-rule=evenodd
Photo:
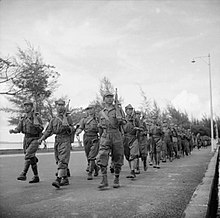
M211 56L208 54L209 58L209 88L210 88L210 119L211 119L211 152L214 151L214 132L213 132L213 108L212 108L212 77L211 77Z

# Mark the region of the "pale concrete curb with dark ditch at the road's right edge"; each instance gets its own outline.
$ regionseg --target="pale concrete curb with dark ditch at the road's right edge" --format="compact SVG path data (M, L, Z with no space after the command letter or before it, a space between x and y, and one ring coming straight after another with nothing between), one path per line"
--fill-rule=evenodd
M197 186L181 218L215 217L217 208L219 148L214 153L202 182ZM214 214L214 216L213 216Z

